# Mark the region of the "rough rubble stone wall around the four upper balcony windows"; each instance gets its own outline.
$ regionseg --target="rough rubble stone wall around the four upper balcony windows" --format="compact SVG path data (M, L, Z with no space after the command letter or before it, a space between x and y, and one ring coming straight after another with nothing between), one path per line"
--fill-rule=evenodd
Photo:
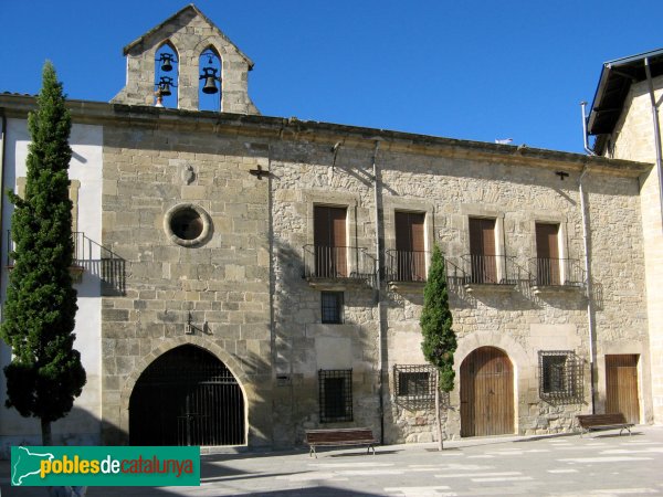
M346 144L336 152L332 144L283 142L274 152L272 212L275 281L276 374L298 382L282 396L290 408L275 417L282 443L288 436L301 441L305 427L319 425L316 370L332 355L338 367L379 378L382 357L385 440L387 443L433 440L432 405L408 405L394 395L393 367L423 364L419 316L423 285L382 282L383 351L379 351L380 322L373 288L316 286L303 279L303 247L313 243L313 205L348 208L348 245L360 246L375 257L375 200L372 149ZM457 152L457 154L456 154ZM578 179L580 156L573 165L523 163L518 160L471 158L460 150L402 152L386 146L377 156L379 167L379 225L382 251L396 247L393 216L397 210L425 213L427 248L439 243L462 274L463 255L470 252L470 216L497 219L498 253L509 257L519 281L512 289L466 288L451 285L454 329L459 336L456 388L452 409L445 413L448 437L460 436L460 367L476 348L491 346L505 351L514 367L514 431L522 434L571 430L575 415L591 410L588 306L585 288L539 293L529 283L536 256L535 222L560 224L562 256L582 268L582 216ZM556 170L569 177L561 180ZM640 229L638 181L632 177L590 172L585 179L592 232L596 336L599 355L611 347L636 349L643 368L646 357L643 246ZM614 247L628 250L614 253ZM385 253L381 253L381 257ZM513 257L513 258L511 258ZM385 263L385 261L382 261ZM457 283L457 282L456 282ZM345 324L320 325L320 289L345 290ZM318 343L324 342L325 347ZM351 356L343 360L338 350L350 343ZM640 343L640 345L638 345ZM539 396L538 352L571 350L581 362L581 396L575 401L548 402ZM370 373L370 374L369 374ZM364 383L362 380L355 380ZM648 378L643 376L641 405L649 419ZM597 379L604 396L604 377ZM285 387L283 388L285 389ZM278 394L278 393L277 393ZM280 394L281 395L281 394ZM379 384L356 390L355 424L377 430ZM280 429L278 426L282 426Z

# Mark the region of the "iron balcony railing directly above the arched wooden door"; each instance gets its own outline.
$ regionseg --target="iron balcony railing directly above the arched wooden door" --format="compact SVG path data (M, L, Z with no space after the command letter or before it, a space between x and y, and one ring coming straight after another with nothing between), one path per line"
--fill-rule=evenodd
M513 256L466 254L461 261L467 284L516 285L530 279L529 272Z

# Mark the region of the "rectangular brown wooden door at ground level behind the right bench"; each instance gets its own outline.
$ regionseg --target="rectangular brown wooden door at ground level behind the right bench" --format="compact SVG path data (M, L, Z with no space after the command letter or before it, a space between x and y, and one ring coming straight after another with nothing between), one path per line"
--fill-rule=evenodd
M606 413L621 412L627 422L640 423L636 353L606 356Z

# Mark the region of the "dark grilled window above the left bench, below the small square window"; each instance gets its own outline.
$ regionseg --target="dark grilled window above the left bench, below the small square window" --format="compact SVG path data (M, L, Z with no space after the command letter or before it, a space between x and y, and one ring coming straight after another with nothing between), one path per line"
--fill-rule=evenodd
M318 371L320 423L352 421L352 370Z

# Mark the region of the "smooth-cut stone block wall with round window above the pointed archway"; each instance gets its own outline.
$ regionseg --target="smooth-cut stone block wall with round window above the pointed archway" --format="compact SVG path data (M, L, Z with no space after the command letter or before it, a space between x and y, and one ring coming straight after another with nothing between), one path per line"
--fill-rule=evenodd
M105 441L126 443L128 402L143 370L193 343L238 379L249 443L270 443L267 181L249 173L269 169L267 146L211 128L118 121L104 130L104 165L103 244L126 261L124 295L103 299ZM189 204L210 224L207 236L187 246L176 243L165 218Z

